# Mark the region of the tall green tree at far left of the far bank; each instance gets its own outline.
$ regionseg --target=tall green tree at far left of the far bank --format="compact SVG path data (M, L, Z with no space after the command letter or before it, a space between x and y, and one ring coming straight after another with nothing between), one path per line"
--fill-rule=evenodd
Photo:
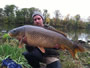
M8 20L7 24L15 24L15 12L17 7L15 5L6 5L4 8L5 16ZM6 22L5 22L6 23Z

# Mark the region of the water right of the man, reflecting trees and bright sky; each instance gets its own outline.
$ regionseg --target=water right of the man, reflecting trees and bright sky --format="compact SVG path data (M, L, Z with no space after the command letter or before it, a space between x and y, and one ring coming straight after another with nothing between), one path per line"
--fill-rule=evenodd
M90 41L90 29L58 29L66 33L70 40Z

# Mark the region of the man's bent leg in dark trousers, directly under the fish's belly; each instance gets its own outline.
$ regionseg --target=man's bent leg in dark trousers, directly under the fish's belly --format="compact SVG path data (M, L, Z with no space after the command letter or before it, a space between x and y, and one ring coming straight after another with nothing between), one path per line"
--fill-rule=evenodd
M24 52L22 53L28 63L33 67L33 68L40 68L40 62L43 59L42 53L40 52L39 49L34 49L33 51L29 52Z

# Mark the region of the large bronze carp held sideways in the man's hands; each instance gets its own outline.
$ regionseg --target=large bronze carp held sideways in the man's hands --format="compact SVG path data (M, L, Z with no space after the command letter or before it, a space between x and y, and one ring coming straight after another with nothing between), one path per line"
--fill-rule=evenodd
M84 52L82 46L70 41L66 36L38 26L25 25L17 27L10 30L8 34L17 38L20 44L25 43L39 47L41 50L42 48L68 50L73 58L77 56L77 52Z

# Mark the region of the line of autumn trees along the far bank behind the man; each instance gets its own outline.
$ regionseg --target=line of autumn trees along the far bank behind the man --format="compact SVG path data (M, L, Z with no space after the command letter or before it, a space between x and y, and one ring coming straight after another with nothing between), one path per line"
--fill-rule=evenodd
M6 5L4 8L0 8L0 24L8 25L25 25L33 24L32 14L34 11L40 11L39 8L22 8L18 9L15 5ZM88 21L82 21L79 14L70 18L70 15L67 14L63 18L59 10L55 10L55 17L50 18L50 14L47 9L43 10L43 15L45 17L45 24L50 24L55 27L63 28L90 28L90 17Z

